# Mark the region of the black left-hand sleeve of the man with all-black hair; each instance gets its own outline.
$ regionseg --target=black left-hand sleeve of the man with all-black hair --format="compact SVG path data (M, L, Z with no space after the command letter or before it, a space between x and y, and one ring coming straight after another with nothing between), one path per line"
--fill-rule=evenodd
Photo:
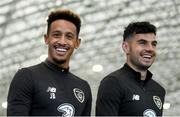
M123 90L115 77L103 79L96 100L96 116L118 116L122 97Z

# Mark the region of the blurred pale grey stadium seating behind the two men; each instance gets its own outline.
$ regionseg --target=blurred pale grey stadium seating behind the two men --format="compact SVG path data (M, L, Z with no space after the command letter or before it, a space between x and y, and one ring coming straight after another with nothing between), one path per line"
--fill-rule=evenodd
M180 116L179 0L0 0L0 116L6 115L15 72L47 57L43 40L47 15L60 7L82 18L82 43L70 70L91 85L92 115L101 79L125 62L121 49L124 27L147 20L158 28L158 56L150 70L167 91L164 115Z

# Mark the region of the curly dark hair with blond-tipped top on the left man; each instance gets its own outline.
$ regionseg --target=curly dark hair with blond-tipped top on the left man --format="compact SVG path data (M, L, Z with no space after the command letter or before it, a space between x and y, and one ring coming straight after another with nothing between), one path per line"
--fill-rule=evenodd
M70 9L56 9L52 12L50 12L48 19L47 19L47 34L49 34L51 23L55 20L64 19L67 21L72 22L77 29L77 36L79 35L80 28L81 28L81 19L80 16Z

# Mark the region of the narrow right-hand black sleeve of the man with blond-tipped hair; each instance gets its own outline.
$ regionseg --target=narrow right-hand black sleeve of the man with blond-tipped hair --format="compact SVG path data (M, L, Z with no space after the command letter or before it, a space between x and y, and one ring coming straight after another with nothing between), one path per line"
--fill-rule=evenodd
M87 99L87 102L86 102L86 106L85 106L85 109L82 113L82 116L90 116L91 115L91 106L92 106L92 93L91 93L91 89L90 89L90 86L89 84L87 85L87 92L88 92L88 99Z

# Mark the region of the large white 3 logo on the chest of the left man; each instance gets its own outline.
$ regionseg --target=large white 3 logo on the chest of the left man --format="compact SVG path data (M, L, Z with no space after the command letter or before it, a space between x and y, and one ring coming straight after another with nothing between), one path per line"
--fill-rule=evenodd
M62 117L73 117L75 113L74 106L69 103L61 104L57 107L59 112L62 112Z

